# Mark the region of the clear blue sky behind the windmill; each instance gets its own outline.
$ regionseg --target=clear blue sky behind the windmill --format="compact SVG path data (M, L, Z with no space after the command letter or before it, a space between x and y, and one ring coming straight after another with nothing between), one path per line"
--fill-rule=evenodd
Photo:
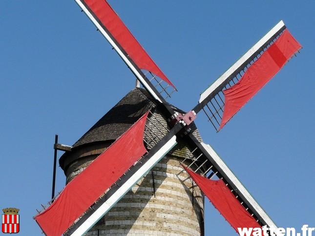
M279 20L303 45L216 134L197 125L279 227L315 227L315 2L109 0L191 109L199 94ZM51 195L53 142L72 145L135 79L74 0L0 8L0 208L21 209L23 236ZM65 178L57 173L57 191ZM206 200L206 235L236 235Z

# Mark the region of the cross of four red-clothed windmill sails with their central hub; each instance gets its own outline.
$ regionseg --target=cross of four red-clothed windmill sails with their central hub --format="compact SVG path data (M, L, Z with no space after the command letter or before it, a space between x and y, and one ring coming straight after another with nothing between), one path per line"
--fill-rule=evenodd
M166 101L176 91L175 86L109 4L105 0L76 2L125 61L167 121L161 123L149 110L134 120L122 136L69 181L61 194L35 216L42 231L48 236L84 235L182 140L192 147L189 149L192 156L181 161L181 170L189 174L233 228L239 223L243 227L267 225L276 228L213 148L197 137L193 121L203 111L218 132L295 55L301 46L284 22L278 22L215 80L201 94L195 107L183 112ZM144 139L144 133L150 140ZM219 180L211 180L214 177ZM227 200L222 201L220 195L208 191L212 188L210 185ZM224 207L226 204L237 214L231 215ZM241 222L235 222L236 216Z

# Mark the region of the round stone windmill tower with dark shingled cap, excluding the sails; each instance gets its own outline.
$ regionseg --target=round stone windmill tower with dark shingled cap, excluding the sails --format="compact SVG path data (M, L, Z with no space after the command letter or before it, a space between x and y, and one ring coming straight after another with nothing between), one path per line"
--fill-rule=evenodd
M182 112L175 107L173 109ZM160 130L155 134L145 130L145 145L150 149L156 142L155 136L163 136L169 127L146 90L135 88L96 122L72 146L71 152L64 153L60 158L66 183L148 110L155 120L152 128ZM201 140L194 124L191 128ZM204 196L183 172L180 162L185 158L188 165L196 157L188 143L180 142L86 236L204 235Z

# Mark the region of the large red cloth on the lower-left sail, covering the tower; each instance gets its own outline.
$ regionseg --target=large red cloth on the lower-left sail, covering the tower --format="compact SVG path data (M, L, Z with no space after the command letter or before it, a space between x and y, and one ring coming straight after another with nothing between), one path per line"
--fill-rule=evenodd
M69 182L60 196L35 216L47 236L61 236L130 166L146 153L146 113L130 129Z

